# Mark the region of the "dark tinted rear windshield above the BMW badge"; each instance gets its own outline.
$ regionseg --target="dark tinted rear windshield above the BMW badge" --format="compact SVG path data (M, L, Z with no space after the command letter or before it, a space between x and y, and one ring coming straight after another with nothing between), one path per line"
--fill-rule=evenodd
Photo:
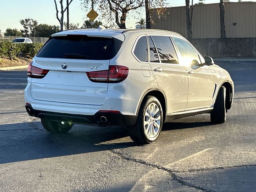
M48 40L37 57L109 60L117 54L121 45L122 41L116 38L57 36Z

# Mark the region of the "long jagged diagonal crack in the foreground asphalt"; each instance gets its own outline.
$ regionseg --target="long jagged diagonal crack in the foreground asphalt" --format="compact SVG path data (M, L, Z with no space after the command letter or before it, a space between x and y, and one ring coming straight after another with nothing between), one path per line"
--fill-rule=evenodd
M162 170L164 172L167 172L172 177L171 180L174 180L174 181L178 182L182 186L194 188L194 189L201 190L201 191L204 191L204 192L214 192L213 190L205 189L205 188L202 188L200 186L196 186L194 184L191 184L189 182L184 181L184 179L182 177L176 175L174 171L172 171L171 169L166 168L164 166L160 166L160 165L157 165L157 164L146 162L146 161L141 160L141 159L134 159L134 158L125 157L122 153L116 152L114 150L109 150L109 151L114 153L114 154L116 154L116 155L118 155L118 156L120 156L124 160L132 161L134 163L138 163L138 164L142 164L142 165L146 165L146 166L150 166L150 167Z

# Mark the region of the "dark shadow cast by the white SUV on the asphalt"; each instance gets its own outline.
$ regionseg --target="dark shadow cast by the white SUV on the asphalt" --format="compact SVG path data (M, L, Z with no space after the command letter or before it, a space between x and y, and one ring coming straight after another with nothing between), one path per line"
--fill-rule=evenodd
M181 120L164 124L163 131L208 125ZM0 164L140 146L128 137L126 128L117 126L75 125L66 134L53 134L40 122L24 122L0 125L0 133Z

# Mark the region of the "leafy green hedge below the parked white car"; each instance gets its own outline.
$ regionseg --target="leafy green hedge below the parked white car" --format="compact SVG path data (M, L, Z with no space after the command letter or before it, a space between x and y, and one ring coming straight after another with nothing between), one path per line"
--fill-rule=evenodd
M0 57L4 58L8 56L12 60L16 59L16 55L21 52L25 57L29 56L33 58L42 46L42 43L26 44L0 41Z

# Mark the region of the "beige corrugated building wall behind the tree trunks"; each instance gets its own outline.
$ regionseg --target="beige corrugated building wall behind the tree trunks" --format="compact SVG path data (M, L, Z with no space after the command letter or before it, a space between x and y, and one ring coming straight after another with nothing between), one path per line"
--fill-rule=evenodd
M194 5L193 8L193 38L220 38L219 4ZM256 2L228 2L224 9L226 37L256 37ZM154 29L170 30L187 37L185 6L167 8L161 19L153 11L152 20Z

